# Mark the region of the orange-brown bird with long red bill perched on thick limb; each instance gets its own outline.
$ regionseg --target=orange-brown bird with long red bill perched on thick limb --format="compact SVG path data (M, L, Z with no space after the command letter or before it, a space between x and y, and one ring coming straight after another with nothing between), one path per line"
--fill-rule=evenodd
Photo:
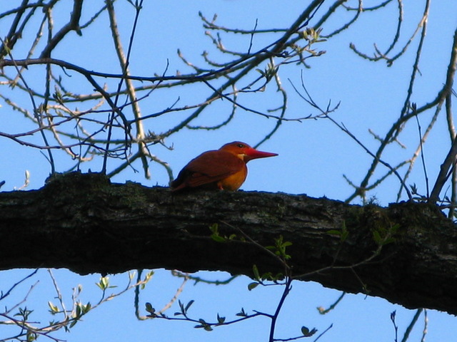
M219 150L204 152L191 160L170 185L173 191L192 187L235 191L248 175L246 162L275 155L244 142L229 142Z

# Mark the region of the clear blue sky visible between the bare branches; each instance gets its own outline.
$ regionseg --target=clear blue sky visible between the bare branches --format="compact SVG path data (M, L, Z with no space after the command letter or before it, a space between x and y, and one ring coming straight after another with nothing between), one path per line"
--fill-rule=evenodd
M210 51L210 58L221 58L211 48L209 38L204 35L204 28L198 12L211 18L217 13L218 24L233 28L251 29L258 19L258 28L286 28L301 13L304 5L301 1L272 1L272 0L217 0L217 1L145 1L144 12L139 19L139 28L134 41L131 56L131 73L139 76L151 76L153 73L162 73L169 60L169 74L176 71L189 72L189 68L176 57L176 49L180 48L183 55L192 63L203 64L201 53ZM356 1L353 6L356 5ZM367 1L373 3L374 1ZM84 12L88 19L102 1L91 3L94 9ZM420 3L420 5L419 5ZM401 33L403 46L409 36L416 29L416 24L423 11L422 1L409 1L404 5L404 24ZM366 4L367 6L371 4ZM134 17L134 11L129 9L125 1L116 4L118 9L119 28L126 46L129 37L129 28ZM59 27L67 20L68 12L62 8L63 16L56 16L55 26ZM348 18L346 12L341 11L339 16L330 21L323 28L323 34L333 31ZM367 54L373 53L373 43L385 49L396 28L396 4L391 4L386 9L376 13L363 14L362 18L353 27L320 43L317 49L326 53L319 58L308 60L311 68L303 69L303 78L314 100L325 107L328 100L332 103L341 101L341 105L333 118L342 122L351 130L367 147L376 150L378 142L373 140L368 133L372 129L376 134L383 136L390 128L391 123L398 117L398 113L406 97L409 76L414 52L418 39L411 43L411 48L405 56L398 59L390 68L385 63L370 63L358 58L348 48L349 43L355 43L358 48ZM319 15L316 16L317 18ZM433 4L428 20L428 33L423 47L421 59L421 75L418 76L412 100L418 105L423 105L433 100L438 89L444 82L444 73L448 64L448 54L451 48L453 30L457 24L457 2L446 1L446 4ZM0 22L0 35L4 36L6 23ZM227 48L246 51L249 45L248 37L231 37L223 35L223 42ZM256 38L253 41L253 50L261 48L266 42L271 41L271 35ZM398 52L398 48L396 49ZM15 51L15 58L20 56L20 51ZM70 57L69 57L70 56ZM66 39L62 46L55 51L54 58L68 58L69 61L85 68L118 73L119 66L116 62L114 49L106 18L93 27L84 31L82 37L74 34L71 39ZM224 57L222 57L224 58ZM41 86L38 68L30 68L26 78L31 85ZM293 94L290 81L300 86L301 68L295 65L281 69L283 86L289 92L288 118L300 118L309 114L317 114L303 100ZM68 82L79 82L80 78L67 79ZM109 81L107 81L109 82ZM111 89L116 83L109 83ZM6 92L0 88L1 92ZM85 88L91 92L91 88ZM141 101L141 110L144 115L174 103L178 96L179 105L190 105L205 100L209 94L202 87L189 87L186 89L161 90L152 93L149 98ZM27 103L28 98L18 99ZM266 111L276 107L280 96L271 86L265 93L253 96L240 96L243 105L248 105L257 110ZM0 102L0 125L8 127L9 133L18 133L34 128L27 123L17 112L12 112L3 101ZM206 110L204 115L194 124L209 125L219 123L230 112L231 106L227 101L217 103ZM421 117L423 128L428 124L432 113ZM176 115L176 116L173 116ZM166 118L149 120L145 123L146 130L156 133L166 130L170 121L178 123L184 116L173 114ZM217 131L183 130L174 135L166 143L174 146L173 151L163 147L154 147L152 150L161 160L166 160L174 170L174 175L179 172L186 162L205 150L217 149L226 142L241 140L255 145L273 128L274 121L260 118L252 113L238 110L233 122ZM3 130L3 129L1 129ZM406 149L398 146L388 148L384 160L396 165L396 162L411 157L418 143L417 127L408 126L400 137ZM39 140L36 140L39 141ZM21 147L11 140L0 139L0 180L5 180L6 185L2 190L13 190L24 182L24 172L30 172L29 190L37 189L44 185L44 180L49 175L49 165L39 150ZM328 120L303 120L303 122L287 122L261 147L261 150L277 152L278 157L250 162L248 179L242 190L263 190L270 192L287 192L292 194L305 193L313 197L326 196L332 199L345 199L351 194L351 187L343 179L346 175L353 182L360 182L365 175L371 158L358 147L351 138L336 128ZM428 177L435 180L439 165L448 148L448 134L443 117L438 118L437 129L433 131L425 147ZM69 168L69 158L61 153L57 155L57 171L64 172ZM83 170L99 170L101 162L95 161L83 165ZM116 167L116 161L111 161L109 167ZM136 167L141 169L139 163ZM386 170L380 168L377 175L382 175ZM133 180L144 185L167 185L168 177L163 167L151 167L152 178L146 180L142 172L126 170L114 177L114 182ZM416 183L420 192L425 193L423 170L417 167L408 184ZM398 181L393 177L369 195L376 196L378 201L387 205L396 200ZM404 198L403 198L404 199ZM358 203L358 202L357 202ZM154 252L154 251L151 251ZM14 284L21 279L26 271L0 272L0 288L5 290L9 284ZM76 276L69 271L54 271L62 294L67 300L71 298L71 288L77 284L84 284L81 299L95 303L99 299L99 291L94 285L99 276ZM211 279L226 279L224 273L201 273L202 277ZM126 275L111 276L112 281L120 287L126 282ZM51 281L46 270L39 271L34 278L40 279L29 295L27 306L39 311L46 311L47 301L56 302L53 297ZM29 286L24 284L16 290L15 298L21 300L28 291ZM216 318L216 313L221 316L233 317L241 307L246 311L273 310L279 299L278 289L255 289L248 291L246 286L250 282L246 277L239 277L229 286L208 286L189 283L180 296L181 301L195 299L192 313L196 318ZM174 296L180 281L169 276L168 271L158 271L154 279L144 291L142 301L150 301L156 308ZM116 291L116 289L114 289ZM277 338L288 338L300 333L301 326L316 327L324 331L331 323L331 328L320 341L393 341L394 331L390 321L392 311L397 311L397 324L399 336L413 317L414 311L390 304L383 299L366 297L363 295L348 295L341 304L326 316L317 313L317 306L328 306L339 296L338 291L323 289L319 284L296 282L293 284L291 296L287 299L286 306L278 324ZM11 305L12 301L9 304ZM167 311L170 316L176 309ZM49 316L49 315L48 315ZM34 317L41 321L52 319L41 316ZM423 321L423 316L420 320ZM137 321L134 317L133 291L120 298L104 304L99 309L91 312L83 322L78 323L70 334L58 336L67 341L266 341L268 321L256 318L239 326L216 328L211 333L192 328L191 323L166 322L166 321ZM418 323L409 341L420 341L422 323ZM3 328L0 329L0 337ZM90 337L88 337L90 336ZM436 311L428 311L427 341L455 341L457 324L455 318ZM41 338L45 339L45 338ZM312 338L311 338L312 339ZM309 340L311 341L311 340Z

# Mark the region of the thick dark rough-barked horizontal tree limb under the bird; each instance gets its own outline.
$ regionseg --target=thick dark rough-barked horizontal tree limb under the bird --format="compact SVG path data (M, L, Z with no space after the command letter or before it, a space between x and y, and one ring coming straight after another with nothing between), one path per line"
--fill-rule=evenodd
M437 207L343 204L306 195L199 191L111 184L99 174L54 176L41 190L0 193L0 269L54 267L79 274L129 269L282 272L262 246L280 235L293 275L408 308L457 314L457 230ZM375 234L399 227L378 249ZM336 234L347 229L343 242ZM378 233L376 233L378 232ZM373 257L375 256L375 257ZM320 271L318 271L320 270Z

